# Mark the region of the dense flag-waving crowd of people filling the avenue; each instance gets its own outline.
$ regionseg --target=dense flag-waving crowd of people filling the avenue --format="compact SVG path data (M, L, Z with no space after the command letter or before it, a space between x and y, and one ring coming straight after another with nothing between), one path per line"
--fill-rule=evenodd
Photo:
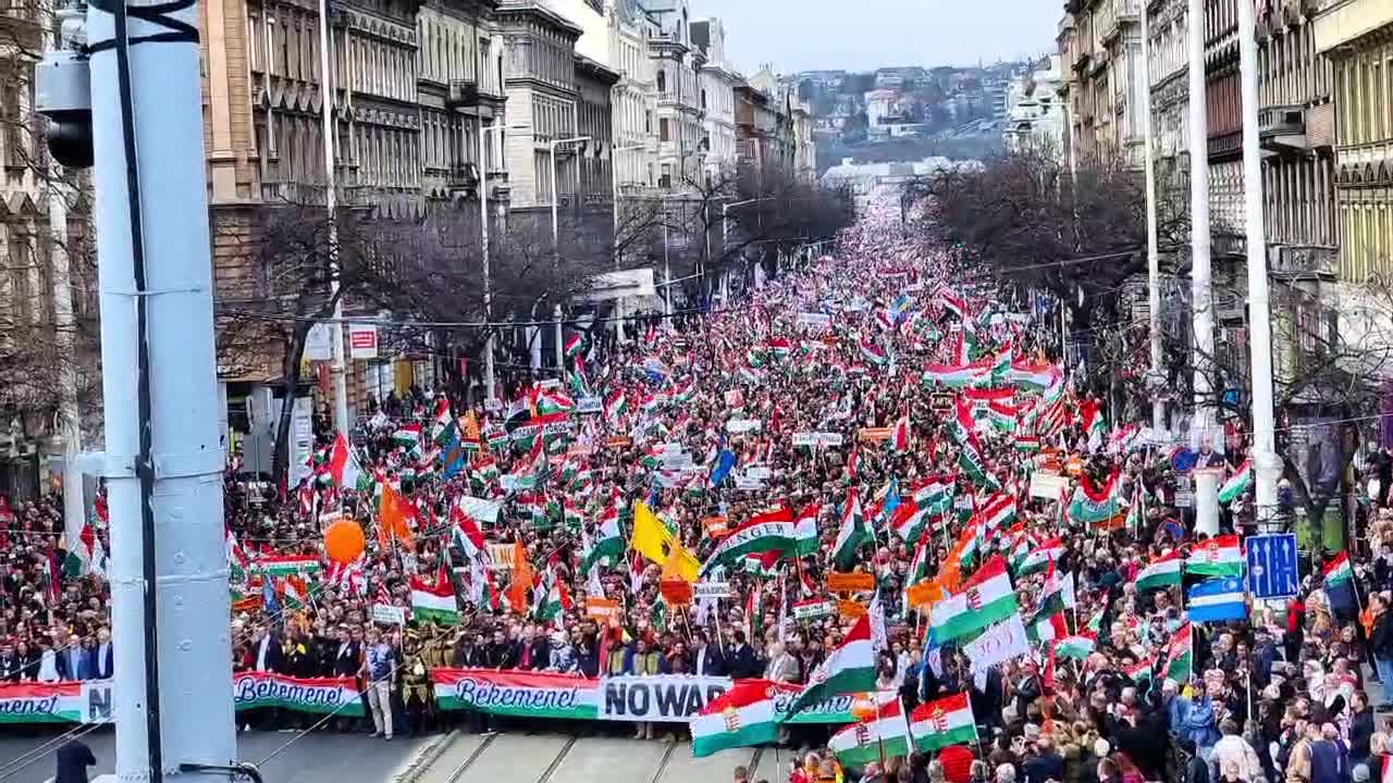
M897 692L905 713L970 694L978 738L853 772L826 750L839 727L794 726L787 743L805 755L791 782L854 773L915 783L1382 779L1393 752L1393 719L1376 716L1386 697L1375 695L1383 690L1373 681L1393 677L1393 528L1379 515L1386 460L1371 463L1372 489L1355 489L1372 503L1364 518L1369 550L1348 552L1351 591L1326 589L1336 553L1314 550L1294 599L1251 606L1245 620L1190 621L1187 591L1202 577L1187 571L1159 588L1138 585L1149 564L1190 557L1209 539L1195 532L1185 471L1170 446L1138 436L1128 422L1099 426L1110 411L1073 383L1057 330L1017 312L979 273L903 240L897 224L873 212L829 258L748 291L736 307L630 325L638 333L605 351L595 348L598 334L578 334L559 383L514 383L501 405L471 408L443 390L391 394L347 439L364 476L351 486L334 460L338 433L326 428L313 475L283 497L230 474L234 667L354 677L371 720L332 722L345 730L386 738L446 726L506 730L507 720L437 711L429 672L807 683L855 613L798 619L790 606L853 598L830 594L826 580L859 571L873 577L889 620L878 687ZM1041 318L1057 323L1055 313ZM981 362L997 368L996 383L978 387L1009 393L974 403L946 380L943 368ZM1052 368L1043 383L1015 380L1039 368ZM603 400L602 410L581 412L586 398ZM992 426L964 436L954 431L958 411L974 405ZM566 426L543 428L536 443L510 436L554 421ZM437 440L442 431L457 440ZM794 435L809 432L840 435L840 444L795 446ZM461 443L462 468L453 463ZM1227 446L1226 456L1212 454L1206 442L1197 461L1237 474L1241 436ZM1066 496L1032 493L1036 471L1063 476ZM900 507L939 478L953 479L954 497L908 525L917 535L905 538ZM1110 485L1117 514L1066 513L1081 483L1089 492ZM384 496L404 529L383 518ZM978 528L965 555L964 529L1000 496L1014 499L1014 520ZM465 497L497 503L500 514L475 520L461 511ZM628 549L591 557L605 520L618 520L627 538L639 503L699 560L730 529L780 507L811 515L819 541L801 553L727 564L719 573L733 598L671 605L663 585L673 561ZM864 509L865 539L847 561L839 552L851 506ZM325 557L322 529L338 510L368 534L355 563ZM0 681L109 676L109 592L93 570L64 574L61 502L49 496L4 511ZM1224 506L1220 532L1251 532L1252 518L1240 496ZM471 539L475 528L482 548ZM104 539L100 524L95 531ZM497 555L500 548L521 552L527 567ZM1018 555L1038 552L1048 553L1046 568L1017 567ZM319 567L290 577L256 568L260 559L297 555ZM931 581L944 594L968 589L993 557L1011 561L1032 649L982 667L968 658L970 639L931 644L928 606L911 606L918 594L910 588ZM535 584L520 589L520 570ZM373 621L373 605L410 610L412 581L442 571L457 596L457 624ZM1066 578L1063 609L1046 612L1050 585ZM561 598L560 609L547 605L550 596ZM592 598L613 602L620 614L588 613ZM1180 666L1172 641L1183 631L1192 659ZM1056 645L1066 637L1092 646L1063 655ZM255 711L247 722L325 723L280 711ZM681 729L648 723L635 734Z

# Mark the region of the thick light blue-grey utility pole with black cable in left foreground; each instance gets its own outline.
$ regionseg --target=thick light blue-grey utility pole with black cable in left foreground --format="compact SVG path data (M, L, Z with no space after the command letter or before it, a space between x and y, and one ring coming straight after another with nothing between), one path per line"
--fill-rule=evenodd
M198 25L88 7L116 772L155 783L237 758Z

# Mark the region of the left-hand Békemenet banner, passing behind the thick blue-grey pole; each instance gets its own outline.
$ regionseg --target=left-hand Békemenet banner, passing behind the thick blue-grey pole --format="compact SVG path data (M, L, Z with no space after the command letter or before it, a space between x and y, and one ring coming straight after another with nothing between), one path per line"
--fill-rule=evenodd
M302 680L269 672L233 674L238 711L279 708L362 718L352 677ZM111 681L0 684L0 723L110 723Z

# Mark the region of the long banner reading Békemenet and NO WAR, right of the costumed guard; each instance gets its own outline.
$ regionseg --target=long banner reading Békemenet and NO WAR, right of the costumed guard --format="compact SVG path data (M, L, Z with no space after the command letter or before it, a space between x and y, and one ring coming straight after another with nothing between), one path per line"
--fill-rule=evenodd
M652 720L688 723L731 688L726 677L660 674L591 680L539 672L436 669L430 673L436 705L513 718L568 720ZM777 685L775 708L793 705L800 685ZM853 697L837 697L800 712L790 723L853 723Z

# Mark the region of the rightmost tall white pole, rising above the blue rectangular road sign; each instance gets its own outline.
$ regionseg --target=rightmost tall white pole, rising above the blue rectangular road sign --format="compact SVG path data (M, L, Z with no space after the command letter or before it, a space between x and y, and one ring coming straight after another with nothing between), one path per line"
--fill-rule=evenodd
M1277 509L1282 463L1272 411L1272 320L1268 244L1262 226L1262 157L1258 150L1258 39L1254 10L1238 3L1238 79L1243 92L1243 202L1248 244L1248 327L1252 354L1252 457L1258 521Z

